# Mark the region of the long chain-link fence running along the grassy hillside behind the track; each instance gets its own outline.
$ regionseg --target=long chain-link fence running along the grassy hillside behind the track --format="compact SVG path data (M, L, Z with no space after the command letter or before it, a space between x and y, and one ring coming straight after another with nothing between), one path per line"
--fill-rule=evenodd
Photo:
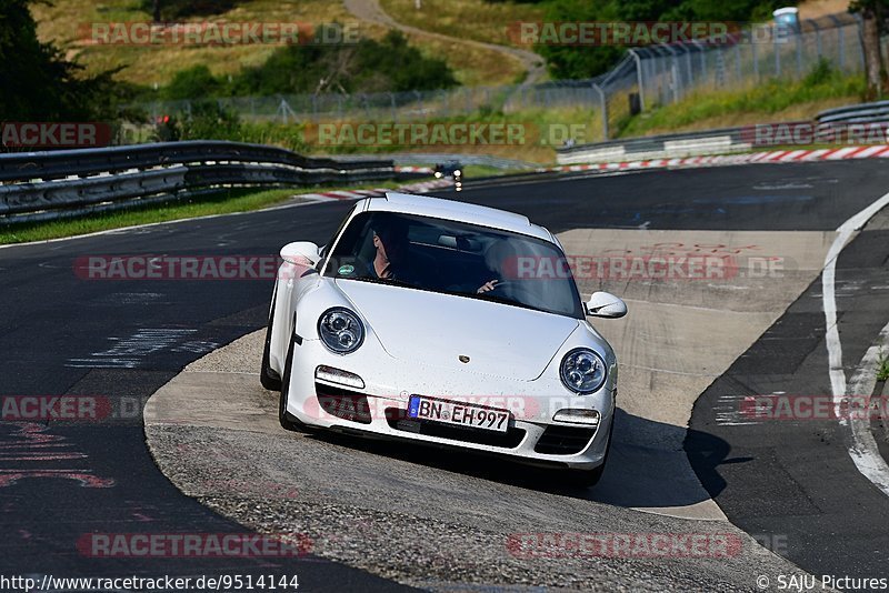
M828 60L842 73L863 70L860 23L841 13L801 21L797 28L753 26L719 43L653 44L628 50L608 73L587 80L535 86L461 87L451 90L319 93L218 99L220 107L247 121L281 123L319 121L414 122L485 118L502 111L560 108L589 110L600 138L617 135L633 114L680 101L707 90L740 90L768 79L798 80ZM158 101L138 107L152 120L164 114L189 117L191 101Z

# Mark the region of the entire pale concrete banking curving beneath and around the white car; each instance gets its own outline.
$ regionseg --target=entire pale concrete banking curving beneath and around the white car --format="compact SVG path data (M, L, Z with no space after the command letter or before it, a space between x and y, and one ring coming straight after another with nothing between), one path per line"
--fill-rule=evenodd
M616 229L559 234L569 258L731 257L733 270L722 278L578 278L585 298L608 290L630 309L625 319L593 319L616 349L620 380L615 445L591 490L547 488L535 481L535 470L473 454L287 433L276 418L277 393L259 385L264 330L196 361L158 391L144 413L148 442L186 494L261 532L309 534L320 555L406 584L747 589L760 572L799 570L728 523L692 472L682 442L698 395L818 278L833 237ZM763 273L756 263L751 272L751 254L777 258L768 261L780 265ZM729 559L597 556L591 564L589 557L529 562L507 544L517 533L601 533L603 525L610 533L732 534L745 545ZM460 562L447 562L450 554Z

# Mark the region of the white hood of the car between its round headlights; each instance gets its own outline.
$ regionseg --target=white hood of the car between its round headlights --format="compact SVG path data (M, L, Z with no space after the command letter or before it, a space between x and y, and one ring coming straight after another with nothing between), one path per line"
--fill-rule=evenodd
M456 371L537 379L578 326L568 316L466 296L354 280L336 283L391 356Z

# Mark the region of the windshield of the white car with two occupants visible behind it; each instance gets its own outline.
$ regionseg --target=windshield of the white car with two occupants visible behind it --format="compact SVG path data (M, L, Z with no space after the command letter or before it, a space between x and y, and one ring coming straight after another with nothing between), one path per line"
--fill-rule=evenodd
M442 219L358 214L333 248L324 275L583 318L573 277L558 245Z

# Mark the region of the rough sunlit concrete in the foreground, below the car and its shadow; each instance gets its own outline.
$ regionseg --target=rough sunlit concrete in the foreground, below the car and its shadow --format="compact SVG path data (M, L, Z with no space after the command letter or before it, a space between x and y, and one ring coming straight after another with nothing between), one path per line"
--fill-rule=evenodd
M248 366L218 370L226 350L243 360L261 341L256 332L194 363L146 410L151 451L167 476L251 530L308 536L322 557L431 591L472 591L472 584L732 591L749 589L763 569L802 574L728 522L599 504L583 491L547 490L535 483L533 470L490 464L486 456L286 432L277 423L276 394ZM213 418L236 409L223 422ZM536 556L515 546L536 534L606 533L695 534L740 546L715 557L565 549Z

